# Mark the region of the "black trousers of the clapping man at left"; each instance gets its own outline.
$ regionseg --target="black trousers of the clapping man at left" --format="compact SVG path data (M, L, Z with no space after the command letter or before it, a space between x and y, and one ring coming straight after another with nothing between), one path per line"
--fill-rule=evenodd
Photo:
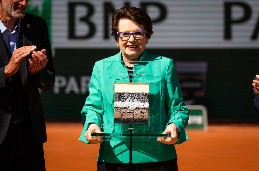
M0 145L0 170L45 171L43 143L23 122L9 126Z

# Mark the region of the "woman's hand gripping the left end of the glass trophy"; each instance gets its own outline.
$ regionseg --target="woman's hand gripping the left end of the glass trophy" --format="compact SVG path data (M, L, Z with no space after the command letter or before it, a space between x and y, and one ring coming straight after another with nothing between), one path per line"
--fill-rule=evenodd
M102 138L100 137L92 137L91 134L92 133L104 133L100 130L100 128L98 127L97 124L90 124L87 131L85 132L85 139L91 143L91 144L96 144L96 143L100 143L102 142Z

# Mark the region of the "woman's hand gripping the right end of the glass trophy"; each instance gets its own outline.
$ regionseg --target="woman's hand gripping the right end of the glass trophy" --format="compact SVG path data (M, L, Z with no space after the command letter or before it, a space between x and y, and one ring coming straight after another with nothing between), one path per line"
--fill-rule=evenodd
M164 144L175 144L178 141L178 127L172 123L168 125L162 134L170 134L170 138L158 138L157 141Z

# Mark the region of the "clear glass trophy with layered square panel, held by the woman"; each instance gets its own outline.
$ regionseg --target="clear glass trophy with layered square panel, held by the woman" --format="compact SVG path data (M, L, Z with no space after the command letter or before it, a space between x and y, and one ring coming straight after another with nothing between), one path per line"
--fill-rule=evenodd
M161 77L161 59L103 61L103 133L91 136L103 141L169 138L170 134L162 134L166 123L161 124L161 80L165 79Z

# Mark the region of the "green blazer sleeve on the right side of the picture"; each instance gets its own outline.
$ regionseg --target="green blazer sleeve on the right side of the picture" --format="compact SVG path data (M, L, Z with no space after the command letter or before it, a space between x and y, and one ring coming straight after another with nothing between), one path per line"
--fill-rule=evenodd
M175 64L172 59L167 66L165 84L165 102L167 105L169 124L176 124L179 129L177 144L181 144L188 140L185 128L188 125L189 111L184 104L182 90L179 80L175 73Z

